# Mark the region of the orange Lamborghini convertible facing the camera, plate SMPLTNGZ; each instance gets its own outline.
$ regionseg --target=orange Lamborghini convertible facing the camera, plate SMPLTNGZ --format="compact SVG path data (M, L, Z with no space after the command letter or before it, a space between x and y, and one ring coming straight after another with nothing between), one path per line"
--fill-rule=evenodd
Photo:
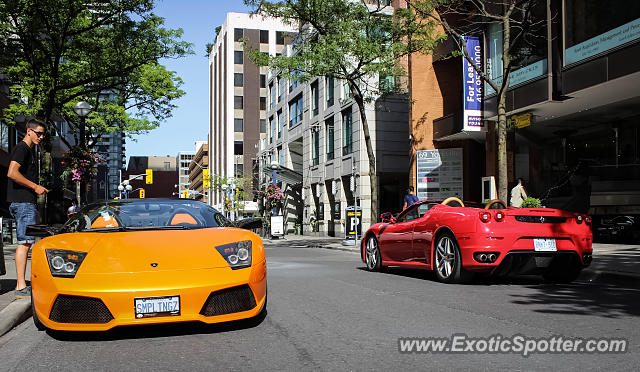
M42 225L33 247L33 321L38 329L252 318L266 308L260 237L187 199L91 204L59 229ZM51 235L51 236L49 236Z

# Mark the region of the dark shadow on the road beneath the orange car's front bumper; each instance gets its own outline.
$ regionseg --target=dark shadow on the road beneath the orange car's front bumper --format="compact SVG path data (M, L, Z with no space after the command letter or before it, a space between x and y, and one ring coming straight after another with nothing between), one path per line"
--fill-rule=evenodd
M184 322L171 324L151 324L116 327L105 332L63 332L47 330L49 336L59 341L114 341L139 338L175 337L194 334L213 334L240 331L259 326L267 316L267 311L252 319L236 320L226 323L205 324Z

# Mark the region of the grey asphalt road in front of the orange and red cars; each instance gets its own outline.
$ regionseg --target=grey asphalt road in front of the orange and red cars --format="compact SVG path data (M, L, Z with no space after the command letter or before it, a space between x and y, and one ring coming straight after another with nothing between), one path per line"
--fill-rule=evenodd
M260 322L38 332L0 338L13 370L636 370L640 289L538 278L445 285L422 271L369 273L350 252L268 245ZM620 337L624 354L404 354L400 337Z

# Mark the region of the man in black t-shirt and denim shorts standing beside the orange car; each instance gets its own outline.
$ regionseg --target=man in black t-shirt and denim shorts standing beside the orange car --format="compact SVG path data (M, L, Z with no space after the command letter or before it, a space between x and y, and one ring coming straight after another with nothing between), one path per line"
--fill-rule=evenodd
M36 223L36 197L49 190L38 185L38 172L33 146L40 143L46 132L44 122L31 119L27 122L27 133L11 151L11 162L7 177L7 201L11 203L9 211L16 220L18 248L16 249L16 298L31 297L31 288L27 287L25 272L27 256L35 239L26 235L28 225Z

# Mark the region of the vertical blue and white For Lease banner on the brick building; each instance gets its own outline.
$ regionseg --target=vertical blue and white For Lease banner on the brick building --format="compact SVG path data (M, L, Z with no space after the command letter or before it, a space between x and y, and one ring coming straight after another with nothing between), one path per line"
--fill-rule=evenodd
M482 69L482 50L480 39L474 36L463 36L467 53L476 66ZM462 77L464 84L462 130L479 132L484 129L482 123L482 80L473 66L462 57Z

